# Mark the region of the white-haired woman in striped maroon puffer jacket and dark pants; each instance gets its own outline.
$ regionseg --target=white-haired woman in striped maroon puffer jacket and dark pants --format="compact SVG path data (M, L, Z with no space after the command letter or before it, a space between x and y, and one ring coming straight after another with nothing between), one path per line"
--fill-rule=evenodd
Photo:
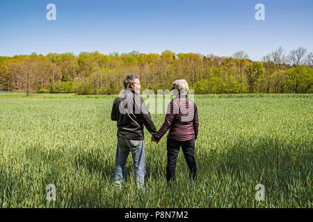
M195 139L198 137L198 110L194 101L188 99L189 87L186 80L176 80L172 83L172 92L175 98L168 104L168 112L163 126L158 133L152 136L152 141L159 142L163 135L168 133L168 164L166 167L166 179L168 182L175 178L175 167L179 148L188 164L191 178L195 178L197 167L195 164Z

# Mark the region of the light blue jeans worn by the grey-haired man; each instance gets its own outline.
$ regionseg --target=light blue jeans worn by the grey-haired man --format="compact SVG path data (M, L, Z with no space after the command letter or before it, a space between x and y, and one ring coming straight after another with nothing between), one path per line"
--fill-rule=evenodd
M135 181L139 187L144 189L145 143L143 140L118 137L114 171L115 184L121 186L123 180L126 179L126 162L129 152L133 157Z

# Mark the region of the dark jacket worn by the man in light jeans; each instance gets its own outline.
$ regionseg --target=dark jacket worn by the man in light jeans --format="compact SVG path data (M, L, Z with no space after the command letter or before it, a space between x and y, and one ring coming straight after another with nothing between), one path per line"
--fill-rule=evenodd
M145 101L131 89L114 99L111 119L117 121L118 137L143 140L143 125L151 133L157 133Z

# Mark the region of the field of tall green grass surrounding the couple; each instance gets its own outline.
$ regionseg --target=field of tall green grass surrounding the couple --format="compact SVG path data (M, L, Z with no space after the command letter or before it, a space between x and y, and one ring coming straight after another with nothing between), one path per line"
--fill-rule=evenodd
M181 151L167 189L166 137L155 144L145 130L145 194L130 156L114 185L114 98L0 94L0 207L313 207L313 94L195 96L197 180ZM157 129L164 117L152 114Z

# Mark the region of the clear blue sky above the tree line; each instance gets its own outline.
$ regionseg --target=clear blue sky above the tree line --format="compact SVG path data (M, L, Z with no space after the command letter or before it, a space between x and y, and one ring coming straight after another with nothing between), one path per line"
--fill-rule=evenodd
M56 21L46 19L48 3ZM265 6L265 21L255 5ZM282 46L313 51L312 0L1 0L0 56L243 50L252 60Z

